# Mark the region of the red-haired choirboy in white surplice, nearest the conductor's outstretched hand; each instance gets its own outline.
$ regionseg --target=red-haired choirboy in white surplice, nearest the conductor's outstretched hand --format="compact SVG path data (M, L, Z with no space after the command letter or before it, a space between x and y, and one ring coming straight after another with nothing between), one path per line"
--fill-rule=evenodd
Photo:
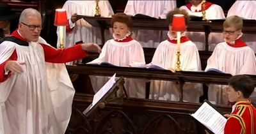
M145 66L145 57L140 43L131 37L132 19L125 13L112 16L113 39L106 41L100 56L88 64L111 63L115 66ZM94 91L100 89L106 78L91 77ZM127 78L125 89L129 97L145 98L144 80Z

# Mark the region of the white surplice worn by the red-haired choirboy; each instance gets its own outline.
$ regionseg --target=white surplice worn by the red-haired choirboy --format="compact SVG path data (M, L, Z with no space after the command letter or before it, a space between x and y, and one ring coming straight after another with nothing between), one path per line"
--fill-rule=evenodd
M143 48L136 40L118 42L108 40L102 48L100 56L88 64L108 62L115 66L145 66ZM90 76L95 93L108 81L108 77ZM145 80L125 79L125 90L129 97L145 98Z

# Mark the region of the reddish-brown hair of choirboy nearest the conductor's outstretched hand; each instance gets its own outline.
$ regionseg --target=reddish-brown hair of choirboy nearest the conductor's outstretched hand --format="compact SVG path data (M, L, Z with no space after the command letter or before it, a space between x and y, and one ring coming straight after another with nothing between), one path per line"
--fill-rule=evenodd
M116 13L112 15L111 26L113 27L115 22L121 22L127 25L130 29L132 28L132 18L126 15L125 13Z

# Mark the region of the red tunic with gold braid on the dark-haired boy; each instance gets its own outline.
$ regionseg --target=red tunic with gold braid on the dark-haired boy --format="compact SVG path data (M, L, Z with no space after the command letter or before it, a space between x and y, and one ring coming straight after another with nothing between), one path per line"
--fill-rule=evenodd
M225 134L256 134L256 108L250 101L236 103L236 108L228 118Z

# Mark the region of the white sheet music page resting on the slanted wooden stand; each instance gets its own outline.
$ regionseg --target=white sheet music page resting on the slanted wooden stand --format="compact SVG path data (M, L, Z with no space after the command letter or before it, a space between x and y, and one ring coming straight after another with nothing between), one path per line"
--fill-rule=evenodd
M116 83L115 81L116 73L106 82L106 84L100 88L100 90L94 94L92 107L111 89L111 87ZM90 108L92 108L90 107Z

